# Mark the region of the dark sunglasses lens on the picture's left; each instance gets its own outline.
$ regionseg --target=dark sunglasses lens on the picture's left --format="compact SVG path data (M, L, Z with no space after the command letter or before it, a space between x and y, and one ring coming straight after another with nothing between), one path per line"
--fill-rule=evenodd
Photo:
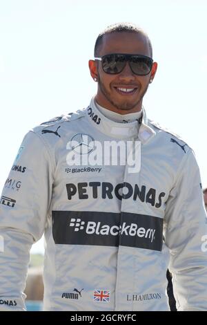
M126 59L124 55L106 55L102 59L103 71L110 73L110 75L115 75L120 73L126 64Z

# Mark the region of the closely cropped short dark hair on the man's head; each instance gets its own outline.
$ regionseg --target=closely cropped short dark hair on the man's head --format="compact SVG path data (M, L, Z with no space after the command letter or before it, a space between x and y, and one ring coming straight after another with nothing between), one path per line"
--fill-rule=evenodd
M152 43L146 34L144 30L139 28L139 26L131 23L117 23L110 25L106 27L102 32L100 32L99 36L97 37L97 40L95 42L95 48L94 48L94 56L98 57L99 56L99 48L101 46L103 36L107 34L111 34L112 32L137 32L138 34L144 35L146 39L148 40L148 44L150 47L150 55L152 57Z

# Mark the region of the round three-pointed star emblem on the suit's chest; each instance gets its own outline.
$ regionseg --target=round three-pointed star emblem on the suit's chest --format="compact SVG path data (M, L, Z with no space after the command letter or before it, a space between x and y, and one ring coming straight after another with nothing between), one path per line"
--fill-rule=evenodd
M70 148L79 155L89 154L94 148L94 139L88 134L77 133L70 140Z

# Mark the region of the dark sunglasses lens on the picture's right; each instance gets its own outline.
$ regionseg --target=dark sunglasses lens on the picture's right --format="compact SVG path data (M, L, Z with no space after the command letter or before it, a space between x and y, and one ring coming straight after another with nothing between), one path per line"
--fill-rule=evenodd
M148 75L152 69L152 59L150 57L132 55L130 67L135 75Z

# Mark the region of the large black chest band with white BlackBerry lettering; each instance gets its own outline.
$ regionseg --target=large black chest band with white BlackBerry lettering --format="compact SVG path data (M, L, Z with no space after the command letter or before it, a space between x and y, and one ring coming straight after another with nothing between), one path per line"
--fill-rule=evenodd
M53 211L56 244L128 246L161 251L163 219L145 214Z

